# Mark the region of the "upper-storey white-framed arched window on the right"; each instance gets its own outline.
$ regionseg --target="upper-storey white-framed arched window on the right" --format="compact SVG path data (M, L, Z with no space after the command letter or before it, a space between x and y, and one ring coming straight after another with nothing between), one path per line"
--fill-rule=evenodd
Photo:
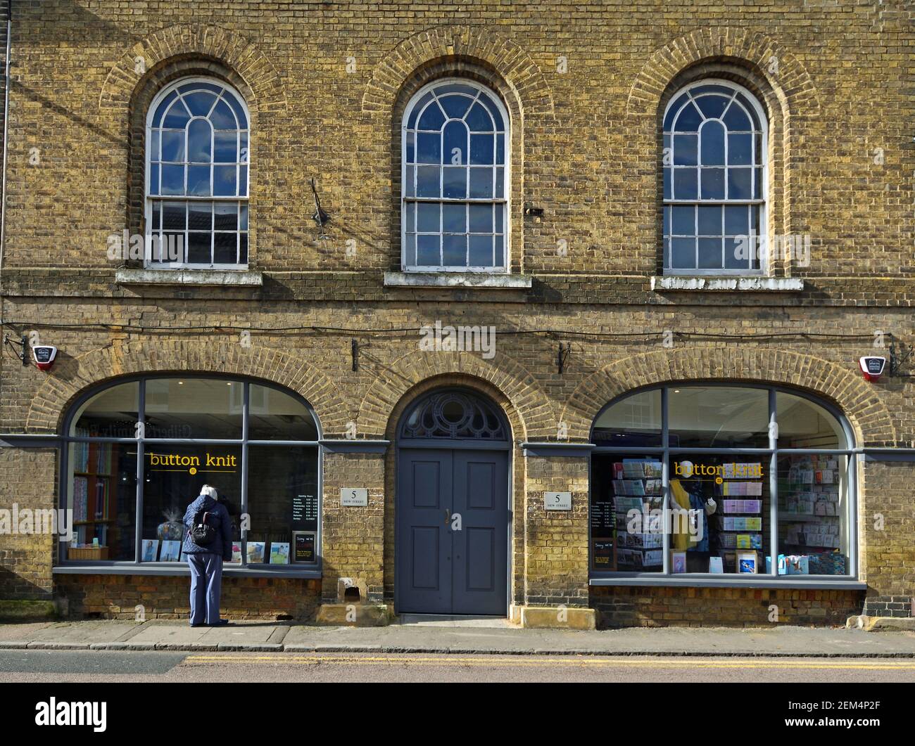
M766 265L766 118L727 80L702 80L664 113L664 272L748 274Z

